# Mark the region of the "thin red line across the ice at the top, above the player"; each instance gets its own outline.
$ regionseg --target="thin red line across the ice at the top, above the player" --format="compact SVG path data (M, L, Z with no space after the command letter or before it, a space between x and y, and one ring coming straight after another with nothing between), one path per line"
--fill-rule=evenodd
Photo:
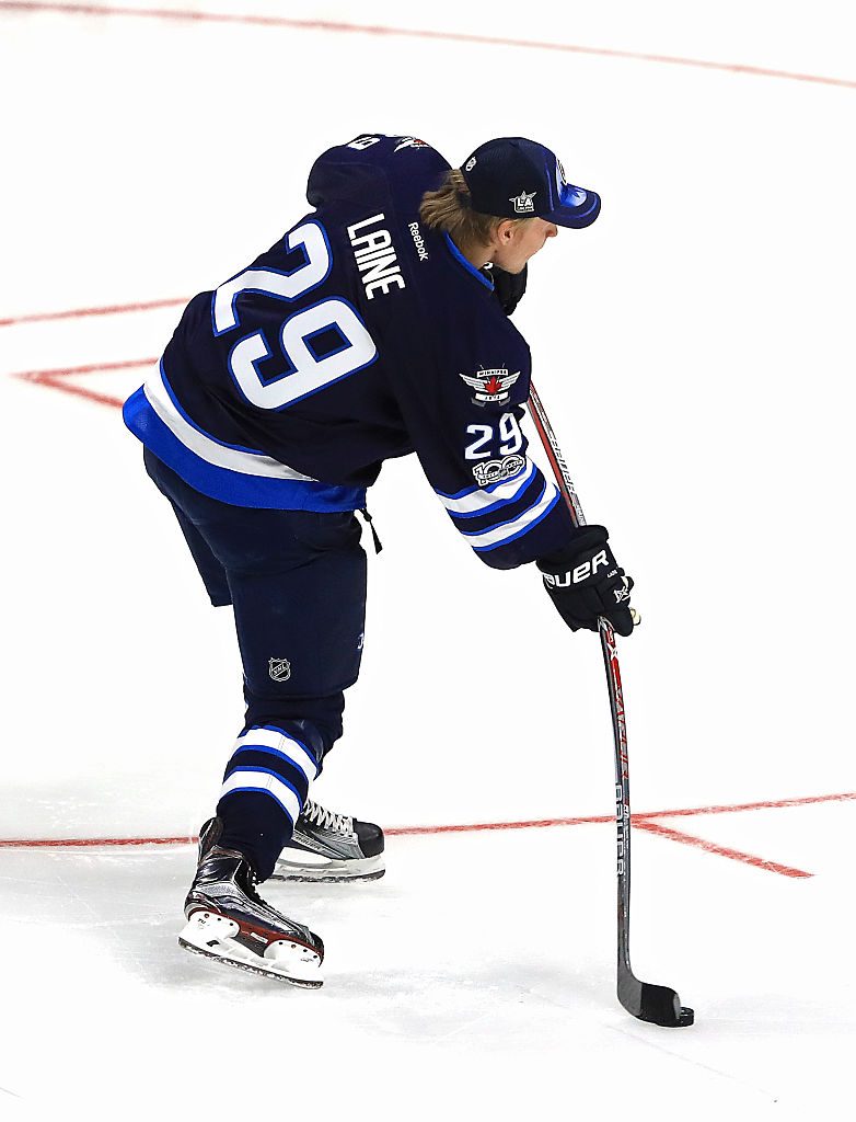
M71 16L136 16L142 19L174 19L208 24L245 24L258 27L288 27L294 30L334 31L346 35L389 35L410 39L436 39L444 43L471 43L478 46L522 47L533 50L555 50L567 54L594 55L603 58L627 58L633 62L662 63L671 66L692 66L700 70L726 71L732 74L751 74L755 77L780 77L793 82L813 82L855 90L856 82L848 79L827 77L820 74L800 74L793 71L772 70L766 66L750 66L742 63L717 63L704 58L682 58L676 55L658 55L639 50L616 50L610 47L584 47L573 43L549 43L536 39L513 39L491 35L468 35L464 31L436 31L425 28L378 27L360 24L343 24L323 19L289 19L285 16L239 15L216 11L179 11L169 8L123 8L85 3L26 2L26 0L0 0L0 9L9 11L52 11Z

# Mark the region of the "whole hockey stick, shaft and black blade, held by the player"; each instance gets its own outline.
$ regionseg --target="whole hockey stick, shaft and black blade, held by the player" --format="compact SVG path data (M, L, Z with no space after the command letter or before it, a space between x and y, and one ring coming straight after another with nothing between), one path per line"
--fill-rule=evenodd
M529 387L529 404L538 435L541 438L547 458L550 461L556 484L561 497L568 505L575 526L585 526L586 519L579 504L576 488L570 478L568 466L561 454L556 434L545 412L541 399L534 386ZM678 1028L692 1024L695 1014L680 1003L674 990L668 986L652 985L640 982L630 965L630 762L627 758L627 726L624 719L624 698L621 688L621 671L618 670L618 653L615 632L612 624L598 620L601 649L606 669L606 681L610 688L610 708L612 709L613 739L615 742L615 824L618 831L618 1001L641 1021L662 1024L667 1028Z

